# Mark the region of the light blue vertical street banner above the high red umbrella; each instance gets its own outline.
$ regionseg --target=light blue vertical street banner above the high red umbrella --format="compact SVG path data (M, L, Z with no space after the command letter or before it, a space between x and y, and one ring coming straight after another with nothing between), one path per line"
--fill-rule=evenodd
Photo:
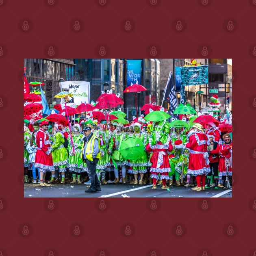
M127 86L141 83L141 60L127 60Z

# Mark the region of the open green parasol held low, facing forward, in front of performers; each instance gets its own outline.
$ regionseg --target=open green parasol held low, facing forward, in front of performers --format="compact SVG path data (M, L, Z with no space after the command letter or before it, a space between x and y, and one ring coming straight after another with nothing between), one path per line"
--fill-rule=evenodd
M119 152L128 160L137 160L143 155L144 145L138 138L128 137L121 141Z

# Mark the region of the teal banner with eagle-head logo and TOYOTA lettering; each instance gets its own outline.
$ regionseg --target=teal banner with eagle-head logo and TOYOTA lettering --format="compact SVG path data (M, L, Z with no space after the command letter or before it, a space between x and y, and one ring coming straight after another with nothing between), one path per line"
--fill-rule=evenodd
M208 65L180 67L182 85L208 84Z

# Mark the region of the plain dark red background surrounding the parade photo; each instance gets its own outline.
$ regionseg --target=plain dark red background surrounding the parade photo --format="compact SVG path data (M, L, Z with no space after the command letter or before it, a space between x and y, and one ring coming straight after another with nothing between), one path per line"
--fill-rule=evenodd
M255 255L256 1L81 2L0 0L1 255ZM23 197L23 59L103 57L233 59L232 199Z

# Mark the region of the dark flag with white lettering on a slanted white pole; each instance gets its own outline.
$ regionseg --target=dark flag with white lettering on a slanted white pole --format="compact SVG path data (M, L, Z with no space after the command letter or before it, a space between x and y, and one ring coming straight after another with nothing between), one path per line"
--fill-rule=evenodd
M167 85L164 90L164 100L169 103L169 115L174 113L174 110L178 107L178 102L175 94L174 78L172 73L169 73Z

